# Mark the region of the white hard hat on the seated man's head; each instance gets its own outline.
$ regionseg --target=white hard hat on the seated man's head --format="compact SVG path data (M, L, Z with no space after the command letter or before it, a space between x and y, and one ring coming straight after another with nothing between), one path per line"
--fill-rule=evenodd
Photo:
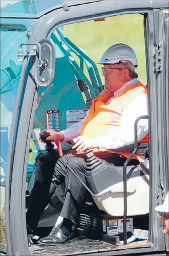
M114 44L109 47L97 64L115 64L121 60L128 60L135 67L138 65L135 51L126 44Z

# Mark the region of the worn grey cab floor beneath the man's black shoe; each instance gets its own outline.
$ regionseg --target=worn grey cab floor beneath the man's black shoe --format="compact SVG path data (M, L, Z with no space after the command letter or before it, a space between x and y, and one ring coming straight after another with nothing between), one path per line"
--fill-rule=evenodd
M92 252L101 252L101 251L110 251L117 248L115 245L107 244L103 241L82 239L76 240L74 242L56 245L56 246L47 246L47 245L33 245L30 247L30 255L57 255L57 256L66 256L66 255L79 255L84 253Z

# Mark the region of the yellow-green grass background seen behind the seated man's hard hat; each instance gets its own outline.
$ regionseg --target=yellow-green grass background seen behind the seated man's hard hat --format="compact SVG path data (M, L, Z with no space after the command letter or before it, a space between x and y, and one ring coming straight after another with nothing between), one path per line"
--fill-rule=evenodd
M84 49L97 63L103 52L113 44L130 45L138 58L137 72L142 83L146 84L145 43L143 15L128 14L106 18L105 21L87 21L64 26L68 38ZM76 58L78 61L78 59ZM101 65L97 65L103 82ZM86 75L87 70L86 70ZM89 78L89 76L88 76Z

